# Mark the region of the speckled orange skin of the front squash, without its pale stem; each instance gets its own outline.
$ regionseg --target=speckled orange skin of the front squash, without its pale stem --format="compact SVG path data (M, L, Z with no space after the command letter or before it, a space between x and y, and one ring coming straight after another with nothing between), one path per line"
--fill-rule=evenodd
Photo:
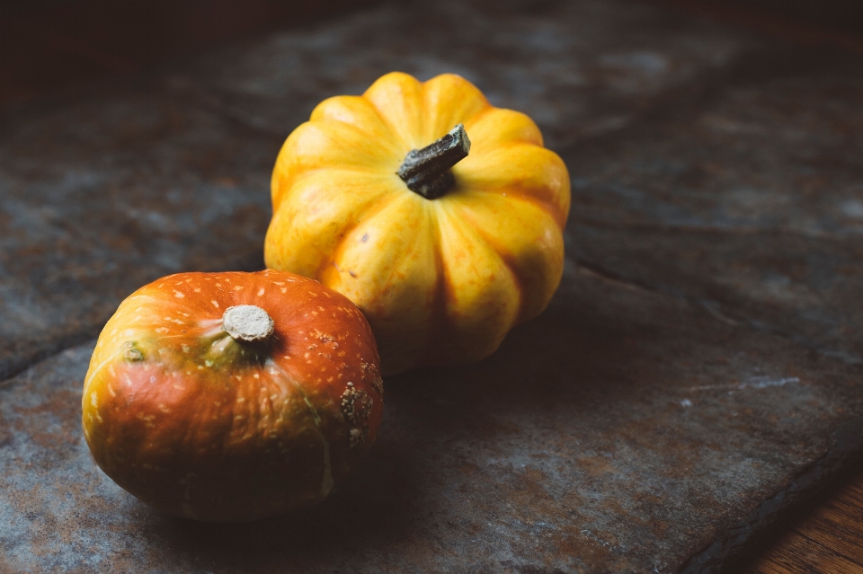
M223 331L255 305L264 341ZM227 325L225 325L227 327ZM282 271L181 273L129 296L105 325L85 378L96 463L177 516L234 522L319 502L375 440L378 352L355 305Z

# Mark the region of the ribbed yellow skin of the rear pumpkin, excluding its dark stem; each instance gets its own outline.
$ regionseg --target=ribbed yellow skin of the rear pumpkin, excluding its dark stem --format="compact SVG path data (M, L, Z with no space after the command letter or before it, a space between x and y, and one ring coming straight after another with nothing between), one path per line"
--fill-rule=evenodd
M471 147L438 199L396 172L463 123ZM536 124L458 75L381 77L321 102L272 173L267 267L316 278L369 319L385 374L491 354L563 272L569 175Z

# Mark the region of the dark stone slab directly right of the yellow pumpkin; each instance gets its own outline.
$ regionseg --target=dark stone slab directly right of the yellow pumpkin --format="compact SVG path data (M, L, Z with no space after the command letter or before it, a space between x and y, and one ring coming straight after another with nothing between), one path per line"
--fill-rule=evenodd
M570 254L861 364L863 68L758 59L626 137L566 150Z

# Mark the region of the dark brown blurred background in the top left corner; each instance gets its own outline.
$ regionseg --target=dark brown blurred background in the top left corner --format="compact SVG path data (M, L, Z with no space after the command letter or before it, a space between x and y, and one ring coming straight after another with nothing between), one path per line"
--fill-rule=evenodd
M0 104L147 69L228 40L325 20L371 0L0 0Z

